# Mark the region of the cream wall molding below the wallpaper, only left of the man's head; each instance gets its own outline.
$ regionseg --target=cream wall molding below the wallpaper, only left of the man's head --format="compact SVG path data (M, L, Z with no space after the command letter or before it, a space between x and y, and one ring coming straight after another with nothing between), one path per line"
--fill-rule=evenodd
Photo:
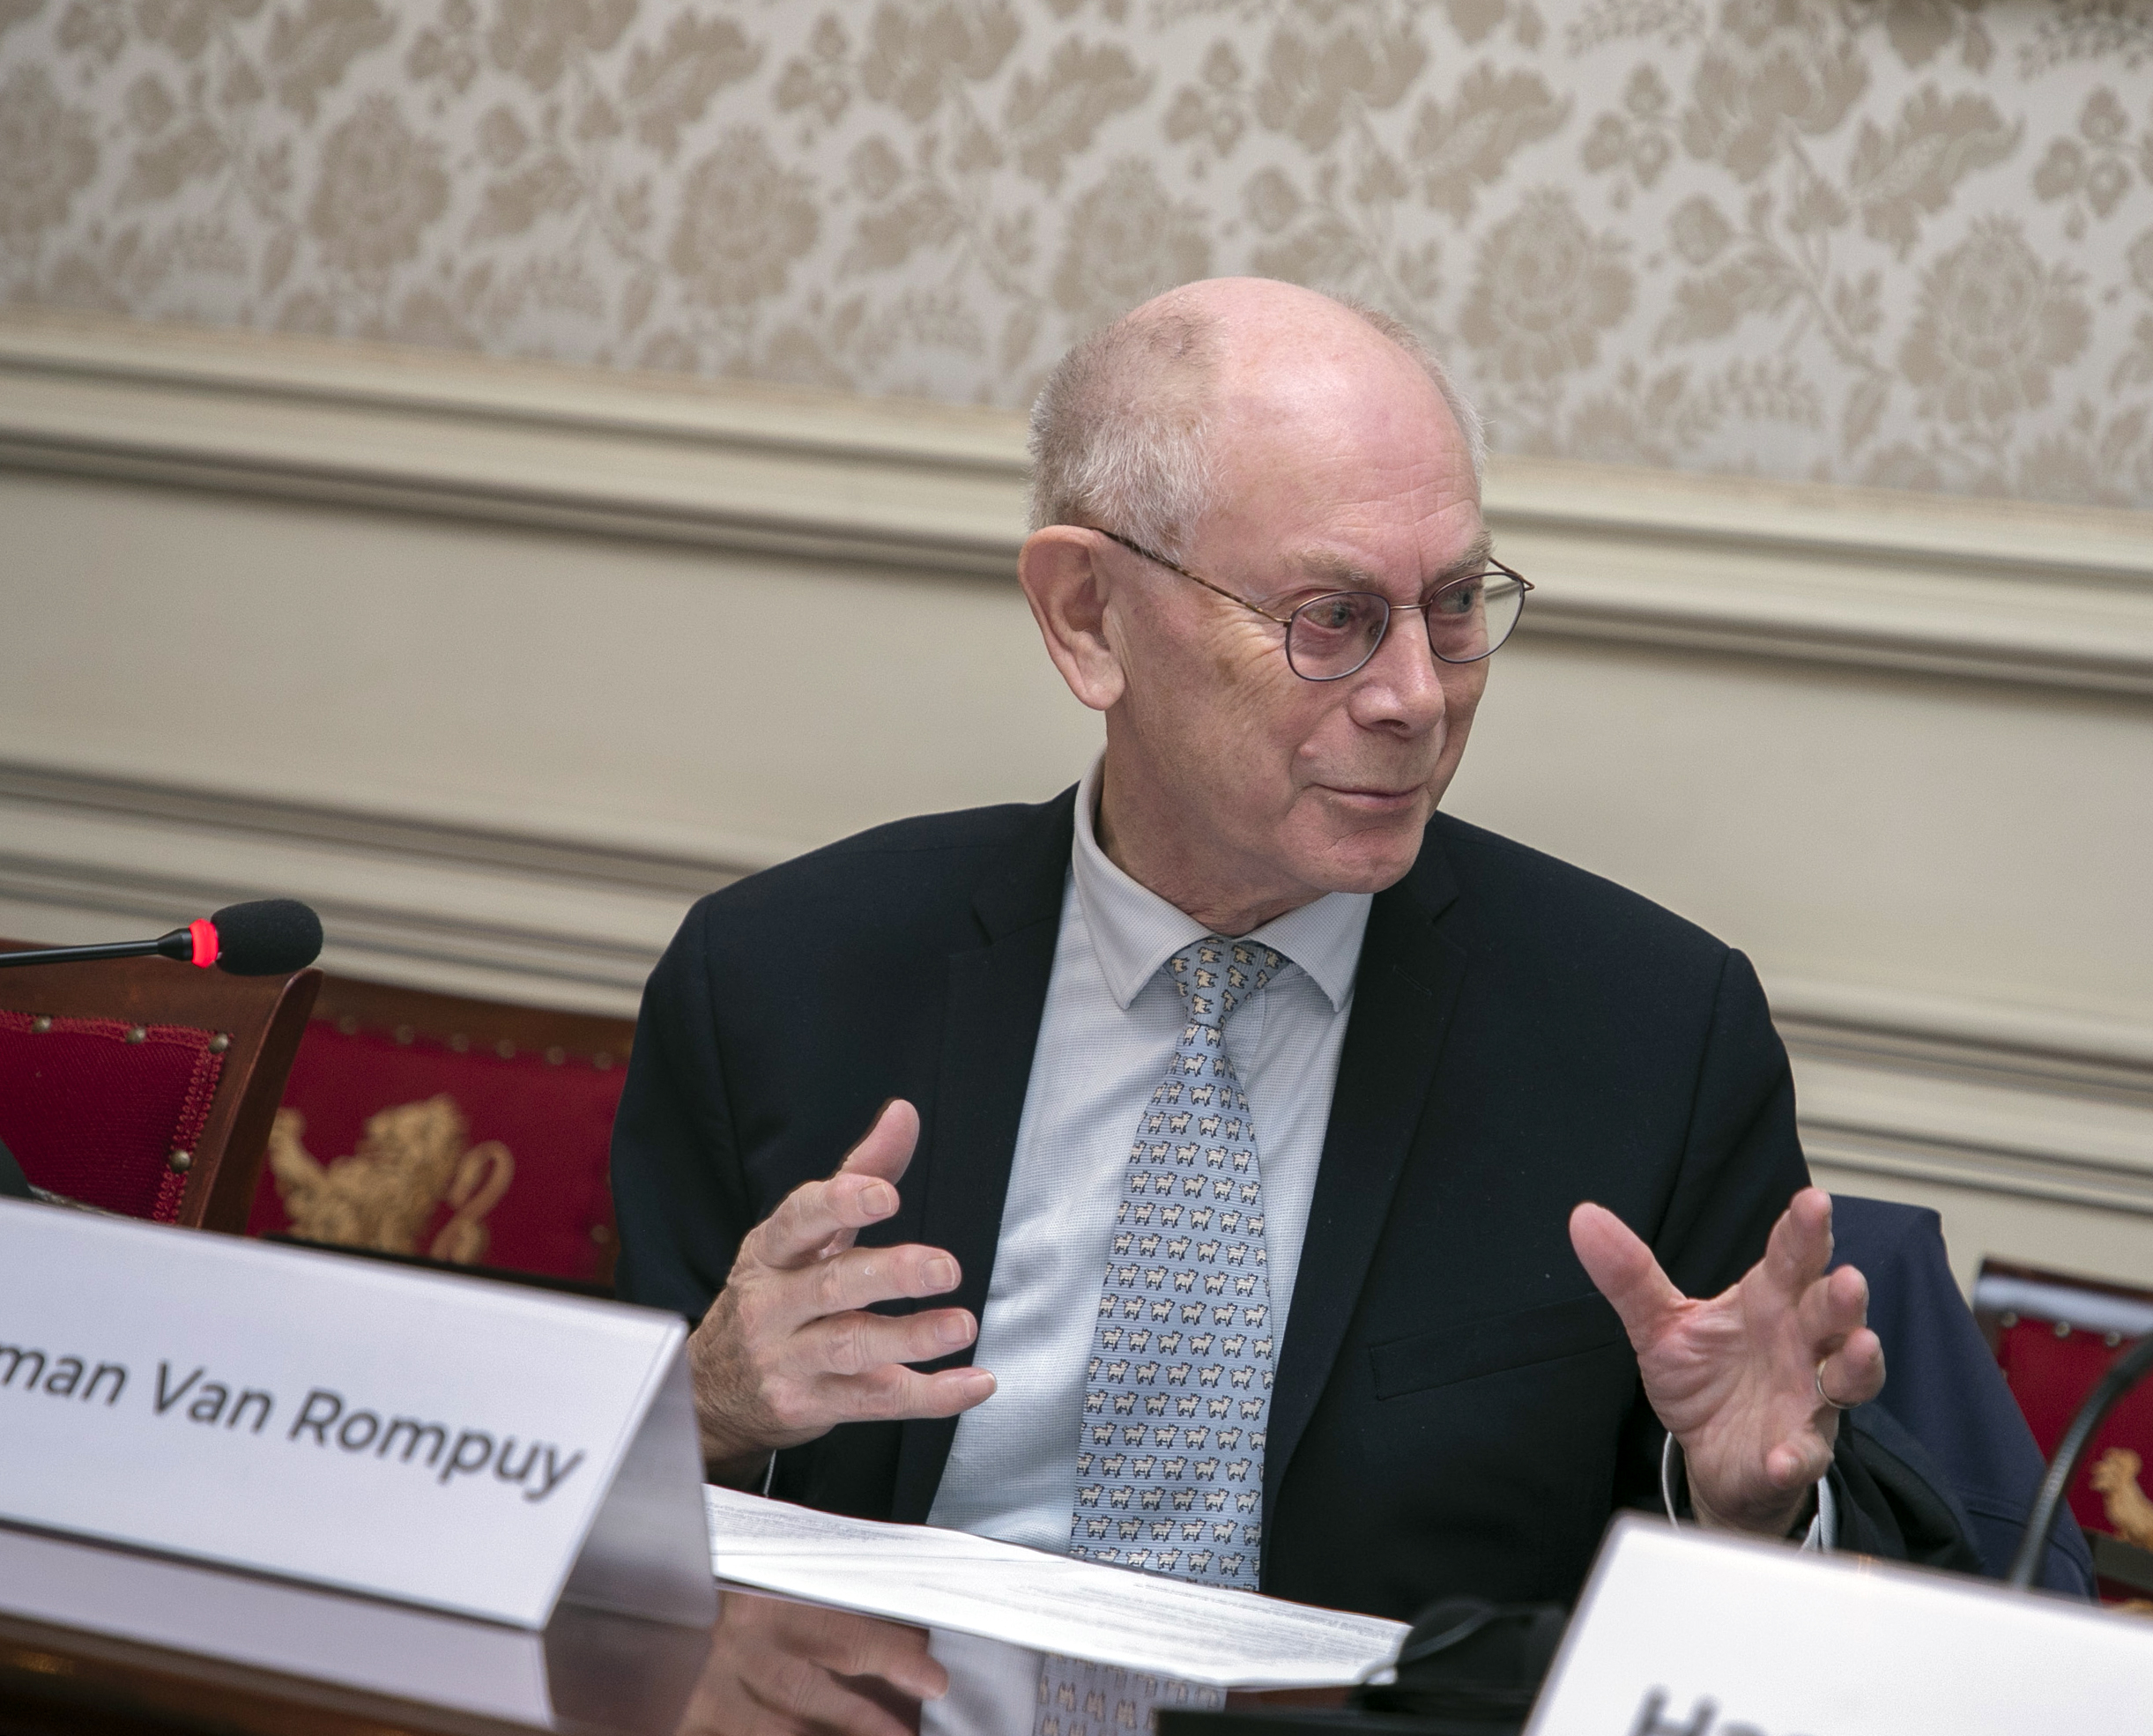
M444 351L0 317L0 467L1010 571L1008 416Z

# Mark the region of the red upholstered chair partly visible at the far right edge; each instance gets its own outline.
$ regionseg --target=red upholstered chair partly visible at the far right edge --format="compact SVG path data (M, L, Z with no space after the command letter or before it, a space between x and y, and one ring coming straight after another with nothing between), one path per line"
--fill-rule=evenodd
M2153 1331L2153 1290L1983 1260L1974 1318L2048 1458L2071 1415L2131 1344ZM2103 1596L2153 1596L2153 1383L2127 1394L2086 1447L2069 1501L2093 1542Z

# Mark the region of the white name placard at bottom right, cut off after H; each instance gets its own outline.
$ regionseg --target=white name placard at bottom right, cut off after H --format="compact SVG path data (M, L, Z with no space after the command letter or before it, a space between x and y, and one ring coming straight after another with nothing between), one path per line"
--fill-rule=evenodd
M1626 1516L1526 1736L2026 1736L2149 1706L2142 1615Z

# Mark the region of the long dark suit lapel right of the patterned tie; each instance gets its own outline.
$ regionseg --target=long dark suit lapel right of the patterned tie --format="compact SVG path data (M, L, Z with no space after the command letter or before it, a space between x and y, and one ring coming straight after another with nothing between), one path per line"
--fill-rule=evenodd
M1300 1243L1264 1447L1264 1506L1315 1411L1427 1107L1436 1055L1464 982L1464 950L1436 918L1458 896L1434 836L1415 870L1376 896L1354 974L1352 1021L1331 1094L1315 1198Z

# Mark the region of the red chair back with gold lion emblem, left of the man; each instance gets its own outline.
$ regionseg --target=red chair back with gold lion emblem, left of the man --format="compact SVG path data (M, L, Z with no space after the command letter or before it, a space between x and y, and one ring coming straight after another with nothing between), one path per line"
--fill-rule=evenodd
M611 1286L633 1036L631 1019L327 978L248 1232Z

